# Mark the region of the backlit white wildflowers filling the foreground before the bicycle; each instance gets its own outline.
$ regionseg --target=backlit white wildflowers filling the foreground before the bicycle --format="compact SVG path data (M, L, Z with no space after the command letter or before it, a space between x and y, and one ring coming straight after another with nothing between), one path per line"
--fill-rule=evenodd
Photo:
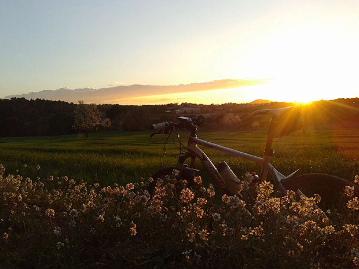
M319 195L275 197L267 181L255 199L221 195L200 177L178 192L177 174L105 187L6 175L0 165L0 267L358 266L358 219L331 223ZM350 201L348 214L358 211Z

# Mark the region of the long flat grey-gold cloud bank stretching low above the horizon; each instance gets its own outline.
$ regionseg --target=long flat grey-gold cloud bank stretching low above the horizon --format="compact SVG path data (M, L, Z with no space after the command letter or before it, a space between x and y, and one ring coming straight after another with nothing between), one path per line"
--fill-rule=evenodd
M28 94L9 95L4 99L11 97L25 98L25 99L48 99L48 100L62 100L66 102L78 102L83 100L85 103L122 103L122 104L149 104L146 100L139 99L141 96L155 96L172 93L187 93L191 91L207 91L217 89L231 89L243 86L259 85L270 82L271 79L222 79L213 80L208 82L197 82L192 84L180 85L113 85L110 84L109 88L93 89L69 89L61 88L57 90L42 90ZM122 82L115 82L122 84ZM136 99L136 100L135 100ZM165 100L157 99L158 103L163 103ZM170 101L170 100L168 100ZM173 101L173 100L172 100ZM172 102L171 101L171 102Z

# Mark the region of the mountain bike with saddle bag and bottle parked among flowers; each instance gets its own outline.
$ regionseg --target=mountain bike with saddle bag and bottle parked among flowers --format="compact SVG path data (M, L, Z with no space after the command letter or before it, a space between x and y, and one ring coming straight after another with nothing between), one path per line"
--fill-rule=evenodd
M191 185L195 173L198 172L198 170L195 169L195 162L196 159L199 159L223 193L228 195L240 195L240 192L242 191L241 181L233 173L229 166L225 162L220 162L217 166L214 165L205 152L198 147L199 145L211 148L215 151L224 152L225 154L232 155L240 159L256 162L261 165L261 173L259 176L253 174L254 184L257 185L258 183L267 180L268 174L270 174L272 180L274 181L272 183L277 186L283 195L285 195L288 190L293 190L297 194L298 198L303 196L308 197L319 192L318 194L322 196L321 206L328 209L333 206L337 207L339 204L345 204L345 200L347 201L349 198L346 199L343 191L348 185L350 187L354 187L354 196L359 196L359 189L353 183L337 176L328 174L298 175L299 169L288 176L280 173L270 162L271 157L274 155L274 150L272 149L273 139L283 135L289 135L290 133L303 128L302 117L299 112L299 107L262 109L253 112L252 115L256 116L264 114L269 115L272 120L269 126L263 157L254 156L199 139L197 137L199 126L201 126L206 119L214 118L214 113L197 115L193 118L178 117L177 123L162 122L151 125L150 129L157 131L152 133L151 137L157 134L168 134L167 140L164 143L164 153L166 153L165 146L173 131L177 134L177 138L180 143L180 147L177 146L180 153L178 154L179 157L176 167L165 167L157 171L153 175L153 178L163 178L166 175L171 175L173 169L177 169L179 172L178 178L186 179ZM178 130L180 129L187 131L189 134L187 146L183 145L181 142L180 134L178 133ZM189 158L191 158L190 166L185 164L185 161ZM253 194L251 196L253 197Z

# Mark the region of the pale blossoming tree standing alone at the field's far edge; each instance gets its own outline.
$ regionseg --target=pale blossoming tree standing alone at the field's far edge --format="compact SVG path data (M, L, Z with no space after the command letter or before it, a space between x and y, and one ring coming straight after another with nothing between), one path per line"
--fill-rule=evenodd
M73 129L78 129L85 133L87 139L89 132L97 131L99 127L111 126L111 121L107 118L101 121L100 111L96 104L85 104L84 101L79 101L74 110L74 125Z

